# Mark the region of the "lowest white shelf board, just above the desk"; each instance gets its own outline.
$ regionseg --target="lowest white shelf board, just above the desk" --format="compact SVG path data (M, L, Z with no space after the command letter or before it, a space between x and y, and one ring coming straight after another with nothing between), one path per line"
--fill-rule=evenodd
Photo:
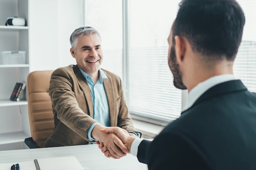
M11 132L0 134L0 145L22 142L29 137L24 132Z

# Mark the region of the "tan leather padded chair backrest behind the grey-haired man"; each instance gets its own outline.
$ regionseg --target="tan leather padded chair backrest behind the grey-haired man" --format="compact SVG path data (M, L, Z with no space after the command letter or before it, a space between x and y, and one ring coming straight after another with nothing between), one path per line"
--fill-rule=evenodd
M33 71L27 76L27 102L31 137L43 148L52 134L54 119L49 96L49 82L53 71Z

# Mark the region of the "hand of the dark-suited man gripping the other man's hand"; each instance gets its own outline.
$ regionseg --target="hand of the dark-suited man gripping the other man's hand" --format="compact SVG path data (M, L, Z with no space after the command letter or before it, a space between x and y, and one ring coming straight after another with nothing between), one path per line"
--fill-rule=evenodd
M128 152L126 152L125 150L123 150L123 152L130 153L132 142L136 137L130 136L126 130L119 127L106 127L104 129L101 129L101 132L116 134L119 137L119 139L121 139L121 141L126 146L126 148L128 148ZM112 153L109 151L108 146L106 146L105 144L102 144L100 141L97 142L96 144L99 145L99 149L101 149L101 152L103 152L106 157L115 158L115 155L112 155ZM119 148L121 147L119 146Z

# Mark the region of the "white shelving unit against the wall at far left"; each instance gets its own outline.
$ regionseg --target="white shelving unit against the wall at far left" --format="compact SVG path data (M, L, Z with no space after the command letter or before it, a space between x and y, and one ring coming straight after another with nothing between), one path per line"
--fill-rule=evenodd
M8 17L27 20L26 26L5 26ZM0 52L26 51L25 64L0 64L0 150L23 149L30 136L27 95L19 102L9 98L16 82L26 82L29 73L28 0L0 0Z

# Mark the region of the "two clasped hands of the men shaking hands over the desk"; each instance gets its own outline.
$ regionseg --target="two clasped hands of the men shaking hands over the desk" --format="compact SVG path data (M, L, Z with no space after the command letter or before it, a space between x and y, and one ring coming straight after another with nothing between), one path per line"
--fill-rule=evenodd
M92 130L92 137L98 139L96 144L106 157L119 159L130 153L132 142L137 137L135 134L119 127L97 126L94 127L95 131Z

